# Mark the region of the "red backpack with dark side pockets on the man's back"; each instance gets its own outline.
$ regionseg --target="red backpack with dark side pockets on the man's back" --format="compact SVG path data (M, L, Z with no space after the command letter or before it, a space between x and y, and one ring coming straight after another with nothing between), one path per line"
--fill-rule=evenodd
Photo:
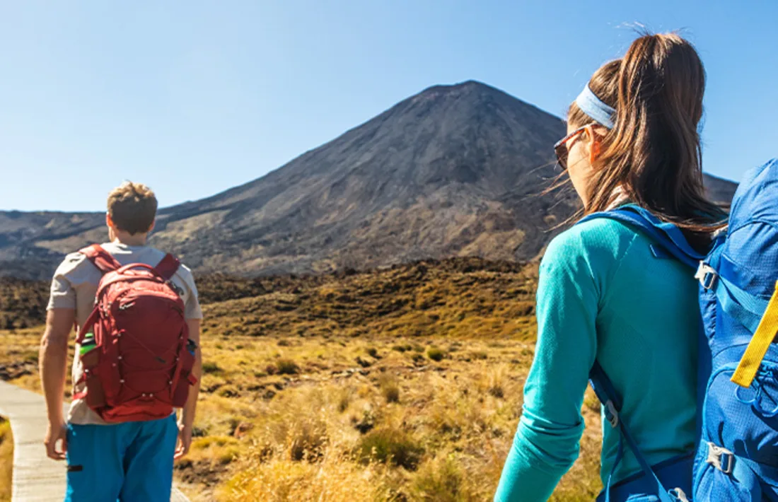
M103 273L95 307L79 331L82 381L73 398L107 422L156 420L187 402L195 347L189 342L184 302L170 278L179 262L121 266L99 244L82 249Z

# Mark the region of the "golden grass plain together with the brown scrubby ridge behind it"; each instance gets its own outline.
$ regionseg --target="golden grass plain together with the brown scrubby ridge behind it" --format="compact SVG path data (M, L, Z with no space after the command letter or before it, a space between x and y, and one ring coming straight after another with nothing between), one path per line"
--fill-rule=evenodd
M196 437L177 479L202 501L491 500L534 354L535 280L411 265L206 305ZM39 339L0 331L0 366L34 390ZM556 502L601 488L591 397L584 417Z

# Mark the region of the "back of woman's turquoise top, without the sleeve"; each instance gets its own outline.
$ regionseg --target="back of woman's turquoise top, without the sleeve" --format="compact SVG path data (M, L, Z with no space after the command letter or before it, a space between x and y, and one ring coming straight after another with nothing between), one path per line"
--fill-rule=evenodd
M695 446L698 283L686 265L657 258L647 237L621 223L594 220L571 233L601 274L597 360L622 398L622 420L650 464L682 455ZM619 431L605 422L603 433L605 481ZM615 480L639 470L627 455Z

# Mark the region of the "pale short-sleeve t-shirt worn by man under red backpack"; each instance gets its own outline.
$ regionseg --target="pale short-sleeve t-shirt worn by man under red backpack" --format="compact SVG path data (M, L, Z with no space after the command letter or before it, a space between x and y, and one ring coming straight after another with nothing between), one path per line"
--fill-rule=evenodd
M120 243L101 244L105 251L116 258L121 265L130 263L145 263L152 267L159 264L165 257L163 251L149 246L128 246ZM98 270L85 255L79 252L65 257L65 260L54 272L51 281L51 297L47 310L53 308L72 308L75 310L75 321L80 326L92 313L97 285L100 283L100 270ZM198 302L197 286L191 270L184 265L178 268L173 275L173 283L180 288L181 300L184 300L186 310L184 317L187 319L202 319L202 310ZM72 379L78 382L83 374L83 367L79 361L79 347L75 348L75 360L73 360ZM74 394L83 390L84 384L74 384ZM68 423L79 425L106 424L83 399L74 399L68 412Z

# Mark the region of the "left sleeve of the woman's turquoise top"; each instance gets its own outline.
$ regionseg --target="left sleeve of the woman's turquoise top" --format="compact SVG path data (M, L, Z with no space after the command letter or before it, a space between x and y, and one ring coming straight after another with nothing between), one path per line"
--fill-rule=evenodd
M575 230L553 240L541 263L538 344L496 501L548 500L578 458L601 286Z

